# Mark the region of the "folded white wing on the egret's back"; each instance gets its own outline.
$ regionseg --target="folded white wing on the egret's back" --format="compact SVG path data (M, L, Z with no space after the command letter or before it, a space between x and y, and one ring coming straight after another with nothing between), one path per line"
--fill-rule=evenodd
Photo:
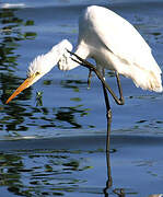
M107 9L92 14L90 21L100 42L118 58L161 72L151 48L128 21Z

